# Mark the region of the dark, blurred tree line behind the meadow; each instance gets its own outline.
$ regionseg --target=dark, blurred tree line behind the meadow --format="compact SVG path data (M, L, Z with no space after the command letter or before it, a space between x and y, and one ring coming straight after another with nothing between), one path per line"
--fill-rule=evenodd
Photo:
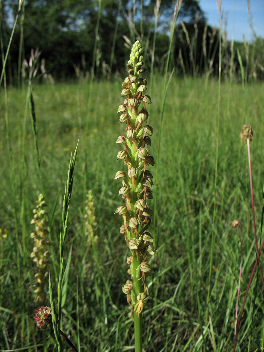
M39 48L43 69L56 80L68 80L91 73L97 77L111 76L125 69L125 58L136 39L143 42L146 68L162 72L174 7L173 0L24 1L10 46L8 81L17 81L20 47L22 58L26 59L31 49ZM12 0L0 2L4 53L17 8L18 3ZM263 79L263 39L256 38L251 44L235 43L232 48L223 38L226 74L230 65L234 71L240 70L239 49L242 63L248 64L249 77ZM254 55L249 60L247 53L252 48ZM178 74L186 76L218 74L218 53L219 30L207 24L198 1L184 0L174 32L171 69L176 67Z

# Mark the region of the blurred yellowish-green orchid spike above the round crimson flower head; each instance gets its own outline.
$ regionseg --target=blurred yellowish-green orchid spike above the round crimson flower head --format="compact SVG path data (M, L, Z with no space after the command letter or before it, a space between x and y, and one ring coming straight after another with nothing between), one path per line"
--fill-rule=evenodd
M35 243L30 257L37 264L37 272L35 274L37 288L34 290L34 293L37 294L36 302L45 302L46 300L45 284L49 273L48 235L50 230L45 207L46 202L43 195L40 194L37 200L37 207L33 210L34 218L31 220L31 224L35 225L35 232L30 235Z

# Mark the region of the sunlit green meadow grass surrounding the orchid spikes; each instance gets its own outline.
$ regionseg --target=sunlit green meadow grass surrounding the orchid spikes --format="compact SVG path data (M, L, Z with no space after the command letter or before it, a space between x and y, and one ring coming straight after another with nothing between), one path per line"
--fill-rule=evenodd
M158 75L152 76L152 80L148 94L152 97L149 113L154 131L151 151L155 158L162 101L160 87L163 82ZM54 257L59 255L67 166L70 153L74 152L80 136L64 249L65 253L70 253L72 246L62 323L63 332L84 351L133 350L134 343L133 322L128 317L126 297L121 290L127 277L125 268L128 269L123 250L124 239L118 229L120 219L113 215L120 205L120 185L114 181L115 172L120 168L115 162L119 150L115 141L122 134L117 114L117 108L122 103L120 88L121 80L95 80L91 93L93 104L88 105L89 84L33 85L44 196L48 214L51 216L54 213L50 236L54 253L51 256L50 275L54 282L57 280L54 268L58 272ZM240 264L239 238L232 228L234 219L241 221L244 253L239 309L256 259L247 151L240 142L239 133L244 122L254 129L251 163L257 235L260 238L263 83L247 84L244 88L232 83L232 96L229 83L222 83L220 92L215 189L218 82L209 79L205 85L205 80L199 77L183 80L173 76L168 87L159 156L155 230L158 233L157 253L151 261L154 276L151 277L153 281L149 281L151 295L143 316L143 347L146 351L212 351L231 350L233 347ZM24 114L26 91L10 88L7 94L19 243L16 243L15 235L16 219L3 104L0 126L1 228L6 228L8 235L1 238L1 350L53 351L56 345L54 337L51 335L46 340L47 335L39 332L33 322L34 310L39 304L33 300L36 268L30 258L33 248L30 238L33 226L30 221L41 193L41 184L29 117L25 121L25 151L20 157L19 131L23 126L19 123L23 121L18 116ZM4 91L1 91L1 98L3 96ZM20 177L21 165L25 172L23 178ZM87 248L83 229L89 189L92 189L94 196L97 222L94 234L98 236L90 249ZM207 305L214 199L215 239ZM24 209L23 216L21 209ZM65 264L67 259L66 256ZM261 286L260 276L257 283L254 277L242 317L238 350L254 351L263 345L260 341L263 322ZM46 294L48 303L48 282Z

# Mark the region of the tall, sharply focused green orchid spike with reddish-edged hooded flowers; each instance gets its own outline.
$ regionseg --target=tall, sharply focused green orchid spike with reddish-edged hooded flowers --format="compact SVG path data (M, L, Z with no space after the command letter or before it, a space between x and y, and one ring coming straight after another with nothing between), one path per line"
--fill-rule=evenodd
M117 159L123 159L127 165L127 172L118 171L116 178L122 178L119 195L125 200L115 211L122 215L124 224L120 227L124 234L131 256L127 258L130 264L131 280L128 280L122 290L127 295L127 302L133 306L135 322L135 349L142 351L142 310L149 298L147 277L153 275L147 263L155 253L152 235L147 231L151 223L153 211L147 201L152 199L153 186L151 172L147 169L154 165L146 145L151 145L152 127L147 125L149 114L146 105L151 103L147 90L146 78L140 78L145 72L143 66L142 48L139 41L135 42L127 68L129 76L122 84L121 96L124 103L119 106L119 122L126 124L126 136L119 136L118 144L124 149L118 152ZM141 342L139 342L141 341ZM141 343L141 344L140 344Z

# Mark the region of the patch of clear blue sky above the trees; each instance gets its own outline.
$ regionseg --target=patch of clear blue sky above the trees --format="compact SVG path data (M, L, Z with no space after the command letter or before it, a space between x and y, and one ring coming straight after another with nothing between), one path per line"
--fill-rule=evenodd
M219 15L215 0L200 0L200 7L205 13L210 26L219 28ZM249 14L247 13L246 0L222 0L223 22L227 18L227 40L243 42L243 34L246 40L252 40L253 34L249 27ZM253 23L253 29L257 36L264 37L264 0L250 0L250 16Z

